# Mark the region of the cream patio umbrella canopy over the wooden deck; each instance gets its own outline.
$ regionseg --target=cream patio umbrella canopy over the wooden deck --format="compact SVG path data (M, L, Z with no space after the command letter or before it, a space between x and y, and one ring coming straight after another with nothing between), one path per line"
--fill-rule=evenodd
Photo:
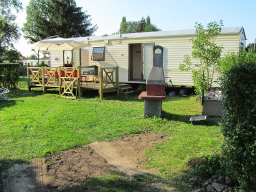
M50 50L50 51L55 50L56 51L56 50L78 49L78 48L83 48L85 46L88 46L88 45L83 42L79 42L79 41L68 39L68 38L56 37L56 38L39 40L31 44L29 47L31 49L36 49L36 50Z

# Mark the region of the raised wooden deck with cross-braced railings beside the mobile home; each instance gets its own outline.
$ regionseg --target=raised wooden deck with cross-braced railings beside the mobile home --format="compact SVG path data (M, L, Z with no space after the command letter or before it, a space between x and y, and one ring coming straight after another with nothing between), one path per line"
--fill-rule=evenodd
M115 91L116 94L119 95L119 87L128 86L128 84L119 84L118 67L103 68L99 66L97 80L84 80L84 76L86 75L80 74L79 67L28 66L28 91L31 91L34 87L42 87L42 90L45 93L49 88L58 88L59 95L71 95L72 98L76 98L77 95L82 96L82 92L89 89L98 90L99 98L103 99L103 93Z

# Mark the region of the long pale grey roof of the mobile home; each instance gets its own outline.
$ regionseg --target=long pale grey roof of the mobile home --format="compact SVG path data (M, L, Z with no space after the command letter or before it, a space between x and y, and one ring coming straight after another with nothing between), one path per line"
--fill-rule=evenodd
M223 27L222 33L240 33L243 30L242 26L236 27ZM136 33L122 33L121 38L141 38L141 37L160 37L160 36L182 36L182 35L194 35L195 29L186 30L168 30L168 31L153 31L153 32L136 32ZM87 40L107 40L107 39L118 39L119 34L103 34L101 36L84 36L84 37L73 37L73 40L87 41Z

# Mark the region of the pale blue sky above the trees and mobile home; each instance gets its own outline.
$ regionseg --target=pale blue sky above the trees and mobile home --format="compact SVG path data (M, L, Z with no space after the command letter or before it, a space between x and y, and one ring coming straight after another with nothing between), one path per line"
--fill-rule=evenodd
M17 18L21 27L29 0L20 1L24 7ZM162 30L193 29L195 22L206 26L222 19L224 27L244 27L246 45L256 38L256 0L76 0L76 4L87 10L93 25L97 24L95 35L118 31L122 16L131 21L149 15L151 23ZM33 53L23 38L15 47L24 56Z

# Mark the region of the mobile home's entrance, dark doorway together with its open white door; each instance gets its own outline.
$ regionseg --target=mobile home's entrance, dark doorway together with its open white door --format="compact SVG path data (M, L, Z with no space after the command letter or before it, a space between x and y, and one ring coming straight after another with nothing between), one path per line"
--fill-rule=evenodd
M129 80L143 81L153 62L154 43L129 44Z

